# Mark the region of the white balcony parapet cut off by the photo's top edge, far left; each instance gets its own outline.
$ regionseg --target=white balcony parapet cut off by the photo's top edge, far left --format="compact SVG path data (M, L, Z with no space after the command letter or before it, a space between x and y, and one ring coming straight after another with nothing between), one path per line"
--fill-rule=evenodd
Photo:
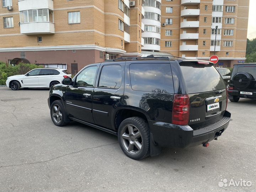
M53 10L53 0L40 0L40 3L35 0L19 0L19 11L33 9L50 9Z

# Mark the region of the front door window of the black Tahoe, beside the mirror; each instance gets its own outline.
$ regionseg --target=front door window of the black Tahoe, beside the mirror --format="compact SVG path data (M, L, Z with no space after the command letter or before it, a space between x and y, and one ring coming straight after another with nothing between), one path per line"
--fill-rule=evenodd
M88 67L76 77L76 86L92 87L96 76L97 66Z

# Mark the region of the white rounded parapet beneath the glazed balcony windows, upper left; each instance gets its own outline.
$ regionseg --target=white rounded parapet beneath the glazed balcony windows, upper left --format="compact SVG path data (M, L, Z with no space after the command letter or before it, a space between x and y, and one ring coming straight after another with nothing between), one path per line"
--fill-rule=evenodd
M21 34L53 34L55 33L54 23L31 22L20 24Z

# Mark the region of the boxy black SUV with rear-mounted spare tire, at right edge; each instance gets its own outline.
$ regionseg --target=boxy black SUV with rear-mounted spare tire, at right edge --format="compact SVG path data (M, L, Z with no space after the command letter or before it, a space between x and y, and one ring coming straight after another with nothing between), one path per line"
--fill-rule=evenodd
M256 63L234 65L228 95L231 102L240 97L256 99Z

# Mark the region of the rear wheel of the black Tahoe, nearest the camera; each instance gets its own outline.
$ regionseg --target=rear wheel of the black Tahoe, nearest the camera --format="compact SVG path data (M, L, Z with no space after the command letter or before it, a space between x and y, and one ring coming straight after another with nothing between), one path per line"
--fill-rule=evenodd
M140 160L150 154L148 123L140 117L125 119L118 129L118 142L129 158Z

